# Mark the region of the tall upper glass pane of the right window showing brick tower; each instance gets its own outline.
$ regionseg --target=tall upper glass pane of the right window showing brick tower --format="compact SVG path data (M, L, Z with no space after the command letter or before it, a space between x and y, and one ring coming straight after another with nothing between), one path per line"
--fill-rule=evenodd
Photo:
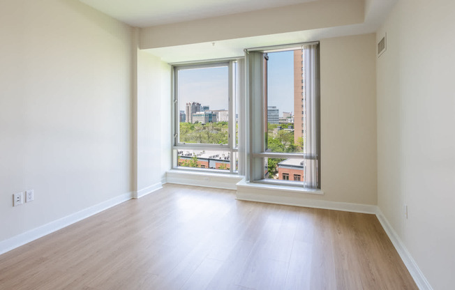
M266 152L301 153L304 142L302 50L272 52L267 56Z

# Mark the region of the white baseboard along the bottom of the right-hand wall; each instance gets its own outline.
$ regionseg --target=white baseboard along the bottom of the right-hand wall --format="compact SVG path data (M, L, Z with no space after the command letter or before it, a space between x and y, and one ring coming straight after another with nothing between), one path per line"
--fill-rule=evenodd
M406 268L408 268L408 271L412 278L414 279L415 284L417 284L417 287L419 287L420 290L433 290L433 287L431 287L428 280L426 280L424 273L422 273L422 270L420 270L419 266L417 266L415 260L412 259L412 256L408 249L405 247L405 244L403 243L403 241L401 241L401 238L398 236L398 234L396 234L394 228L391 227L389 221L387 220L387 218L382 213L379 207L377 207L376 210L376 217L378 217L378 220L381 223L382 228L385 230L387 236L389 236L391 243L394 244L396 252L398 252L398 254L401 257L401 260L403 260L403 263L405 264Z

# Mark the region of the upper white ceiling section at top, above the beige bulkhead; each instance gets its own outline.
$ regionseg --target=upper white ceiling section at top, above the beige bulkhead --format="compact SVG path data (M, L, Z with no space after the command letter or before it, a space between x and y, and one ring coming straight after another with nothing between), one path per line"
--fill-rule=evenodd
M135 27L184 22L320 0L80 0ZM343 0L337 0L343 1ZM176 21L177 20L177 21Z

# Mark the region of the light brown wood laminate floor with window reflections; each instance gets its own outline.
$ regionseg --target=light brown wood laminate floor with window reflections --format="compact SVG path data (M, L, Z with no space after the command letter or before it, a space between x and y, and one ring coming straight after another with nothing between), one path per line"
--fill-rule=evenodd
M165 185L0 256L0 289L417 289L375 215Z

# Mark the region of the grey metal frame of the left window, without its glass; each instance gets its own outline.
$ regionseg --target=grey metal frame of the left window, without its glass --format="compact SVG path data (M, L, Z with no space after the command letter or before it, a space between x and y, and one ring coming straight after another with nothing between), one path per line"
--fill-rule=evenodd
M239 148L236 146L236 95L237 95L237 77L236 73L238 59L214 59L210 61L198 61L188 63L171 63L172 72L172 169L202 171L223 174L238 174L236 169L237 158L239 158ZM179 142L179 70L189 70L197 68L218 68L227 67L227 102L228 102L228 142L227 144L200 144ZM188 118L188 116L186 116ZM187 119L188 120L188 119ZM237 142L239 143L239 142ZM200 167L181 167L178 163L178 151L224 151L230 154L230 168L211 169Z

